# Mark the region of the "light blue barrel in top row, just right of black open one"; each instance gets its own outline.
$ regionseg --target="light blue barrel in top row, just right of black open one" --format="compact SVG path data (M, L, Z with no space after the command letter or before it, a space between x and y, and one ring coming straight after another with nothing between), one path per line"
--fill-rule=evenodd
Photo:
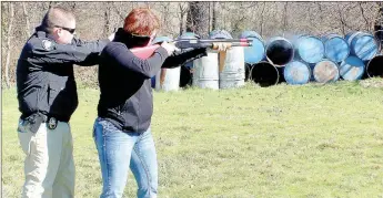
M306 63L318 63L324 56L324 44L314 35L301 35L296 42L296 58Z

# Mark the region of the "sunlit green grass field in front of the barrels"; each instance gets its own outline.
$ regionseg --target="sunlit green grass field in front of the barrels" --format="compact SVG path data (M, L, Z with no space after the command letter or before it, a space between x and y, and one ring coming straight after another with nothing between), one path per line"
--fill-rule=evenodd
M160 198L383 197L383 80L154 93ZM71 119L75 197L101 173L92 125L99 91L79 88ZM2 92L2 195L19 197L16 90ZM125 197L135 197L129 175Z

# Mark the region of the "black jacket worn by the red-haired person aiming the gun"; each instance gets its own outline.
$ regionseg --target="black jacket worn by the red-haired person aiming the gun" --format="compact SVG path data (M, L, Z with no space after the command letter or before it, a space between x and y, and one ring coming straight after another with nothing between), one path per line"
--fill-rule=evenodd
M206 49L195 49L168 58L160 46L154 54L142 60L129 50L132 39L122 29L115 33L101 53L99 65L99 117L113 123L124 132L145 132L153 114L151 77L163 67L175 67L206 55Z

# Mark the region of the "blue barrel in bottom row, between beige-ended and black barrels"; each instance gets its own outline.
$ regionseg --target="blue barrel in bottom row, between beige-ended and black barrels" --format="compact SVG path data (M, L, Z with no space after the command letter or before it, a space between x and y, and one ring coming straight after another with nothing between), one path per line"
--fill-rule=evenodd
M350 55L340 64L340 74L347 81L360 80L364 73L364 63L361 59Z

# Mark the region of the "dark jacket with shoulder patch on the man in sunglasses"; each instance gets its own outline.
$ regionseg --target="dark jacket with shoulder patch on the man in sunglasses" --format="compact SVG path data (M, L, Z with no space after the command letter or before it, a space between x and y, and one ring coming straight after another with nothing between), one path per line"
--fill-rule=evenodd
M21 118L40 112L68 122L78 106L73 64L98 64L109 40L59 44L37 28L21 51L17 65L17 92Z

